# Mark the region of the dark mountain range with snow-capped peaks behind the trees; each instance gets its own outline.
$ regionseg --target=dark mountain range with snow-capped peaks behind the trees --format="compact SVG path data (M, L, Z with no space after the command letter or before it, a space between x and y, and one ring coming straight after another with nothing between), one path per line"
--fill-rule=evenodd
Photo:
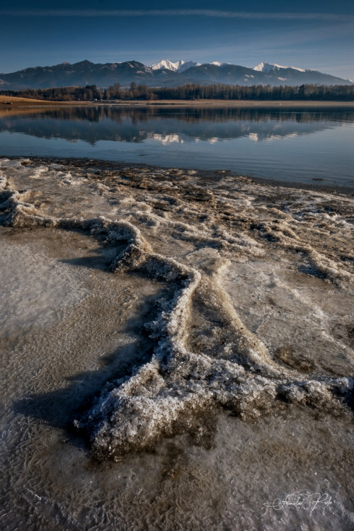
M129 86L132 82L147 86L178 86L187 83L272 86L353 84L349 79L341 79L316 70L282 67L265 62L247 68L217 61L200 64L194 61L171 62L164 59L149 66L137 61L105 64L81 61L74 64L64 62L52 67L26 68L11 74L0 74L0 91L59 86L107 87L115 83Z

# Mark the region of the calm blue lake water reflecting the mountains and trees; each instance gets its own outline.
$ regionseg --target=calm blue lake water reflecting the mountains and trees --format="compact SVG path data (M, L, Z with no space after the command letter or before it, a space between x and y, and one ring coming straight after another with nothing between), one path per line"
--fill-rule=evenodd
M229 169L354 188L354 109L78 107L0 118L0 155Z

